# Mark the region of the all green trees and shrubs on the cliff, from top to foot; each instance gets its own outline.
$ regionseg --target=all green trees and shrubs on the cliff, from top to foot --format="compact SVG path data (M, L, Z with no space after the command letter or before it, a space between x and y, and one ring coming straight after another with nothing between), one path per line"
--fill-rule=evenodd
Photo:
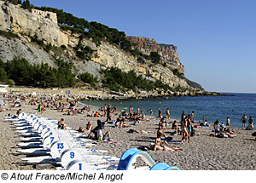
M54 9L48 7L34 7L30 4L29 0L21 1L12 0L10 3L20 3L21 7L24 9L40 9L44 11L50 11L57 14L58 24L62 30L69 30L73 33L79 33L79 43L73 48L76 51L77 57L82 60L91 60L91 56L94 50L89 46L84 46L82 40L88 38L96 43L96 46L100 46L102 42L108 42L119 49L123 49L126 52L130 52L132 55L137 57L139 63L144 64L145 60L152 60L153 64L160 63L160 54L157 52L151 52L148 54L143 54L139 49L132 49L132 44L127 40L124 31L118 31L117 29L104 26L96 21L89 22L84 19L77 18L73 14L64 12L62 9ZM39 27L38 27L39 29ZM4 37L18 37L16 34L9 31L0 31L0 35ZM56 48L51 43L45 44L44 40L38 37L37 34L30 36L33 43L37 43L46 52L50 50L60 51L67 49L65 45L61 45L61 48ZM55 55L56 52L55 52ZM55 56L57 58L57 56ZM14 81L17 84L40 86L44 88L49 87L73 87L75 86L75 77L72 73L73 65L69 64L63 60L56 60L57 67L51 67L48 64L41 65L31 65L24 58L15 58L14 60L9 60L7 63L3 63L0 60L0 82L13 84ZM166 63L163 64L166 66ZM138 75L135 71L124 72L119 68L111 67L106 70L101 71L104 78L102 80L103 87L108 87L108 89L119 91L127 89L143 89L143 90L153 90L159 89L173 89L162 83L160 80L149 81L142 75ZM178 77L183 77L183 74L178 70L173 70L173 74ZM148 73L150 76L150 73ZM89 83L91 86L96 86L99 83L97 77L90 75L90 73L82 73L78 76L79 81L83 83ZM178 88L177 88L178 89Z

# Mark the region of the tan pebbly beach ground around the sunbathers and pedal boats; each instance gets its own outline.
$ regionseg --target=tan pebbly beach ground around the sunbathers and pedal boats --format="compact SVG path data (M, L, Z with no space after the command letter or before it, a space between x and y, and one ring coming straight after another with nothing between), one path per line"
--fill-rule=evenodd
M0 100L3 100L3 95L0 95ZM38 106L28 105L30 99L26 98L26 101L20 101L22 112L28 114L35 114ZM12 105L12 103L10 103ZM82 105L76 106L82 108ZM10 108L9 104L2 106L2 108ZM4 170L26 170L35 169L34 165L23 163L20 159L26 157L16 152L20 143L20 136L11 123L4 122L4 117L8 113L15 114L19 108L13 108L12 111L0 112L0 169ZM92 106L90 112L84 112L79 116L63 115L67 112L61 112L61 110L47 108L43 114L37 113L37 116L49 117L51 119L60 120L61 117L65 119L67 126L72 129L79 129L84 127L85 124L90 121L93 128L96 127L96 121L98 119L105 121L107 117L87 117L88 114L93 112L99 112L97 107ZM136 110L134 110L135 112ZM119 113L119 112L117 112ZM118 115L113 115L112 119L116 120ZM132 122L125 120L128 125L127 128L114 128L112 123L107 123L102 130L103 133L109 131L114 142L119 144L108 144L102 142L95 142L97 149L107 150L108 155L114 157L121 157L121 155L130 148L138 148L140 146L149 146L154 142L156 137L157 124L160 122L160 118L147 116L148 121L143 121L142 125L133 125ZM174 119L171 119L173 121ZM170 120L168 120L170 121ZM129 134L129 129L139 129L153 131L148 134ZM217 138L211 137L209 134L213 134L212 125L209 128L195 129L195 133L200 133L200 136L193 136L191 138L192 143L185 142L170 142L172 146L181 147L183 151L177 152L161 152L151 151L147 152L154 159L156 163L167 163L171 166L177 166L184 170L248 170L256 169L256 142L255 137L252 136L253 131L247 131L243 129L235 128L236 132L241 131L241 134L236 134L235 138ZM171 137L171 132L174 130L171 127L166 127L164 132L167 136ZM84 134L89 134L84 133ZM172 135L173 140L181 140L181 135Z

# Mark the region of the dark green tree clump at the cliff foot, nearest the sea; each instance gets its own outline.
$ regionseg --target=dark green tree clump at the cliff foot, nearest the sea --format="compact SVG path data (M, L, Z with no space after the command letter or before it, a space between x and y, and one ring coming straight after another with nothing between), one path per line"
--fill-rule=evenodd
M121 88L135 89L136 87L148 91L156 88L172 90L169 85L159 80L156 82L148 81L142 75L137 76L134 71L123 72L117 67L111 67L101 72L105 75L105 79L102 81L103 86L113 91L119 91Z

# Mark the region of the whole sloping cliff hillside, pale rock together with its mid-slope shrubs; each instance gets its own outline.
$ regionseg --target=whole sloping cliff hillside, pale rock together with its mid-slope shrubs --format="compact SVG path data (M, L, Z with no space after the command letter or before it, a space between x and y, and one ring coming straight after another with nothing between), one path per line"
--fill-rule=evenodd
M175 46L158 44L158 49L155 51L159 52L160 47L159 53L162 59L159 64L155 64L147 56L140 56L150 53L144 53L142 50L138 56L134 54L134 48L129 49L129 45L133 42L129 37L126 40L124 32L90 22L90 27L93 26L94 30L96 26L101 26L108 30L106 35L109 32L113 32L113 35L111 39L106 35L102 35L102 38L96 37L95 35L99 35L102 31L99 28L93 35L89 31L90 37L86 37L84 36L86 34L73 31L67 26L63 28L58 15L58 13L40 9L22 9L20 5L0 1L0 30L2 31L0 60L6 63L15 58L25 58L31 64L47 63L51 67L57 67L57 60L63 60L72 64L75 76L88 72L97 77L98 88L105 86L104 70L117 67L123 72L134 71L137 76L148 81L167 84L170 87L169 91L203 90L200 84L191 85L185 77L180 77L173 72L177 69L178 73L184 73L184 67L180 63ZM12 32L12 36L6 36L8 32ZM117 34L122 37L121 41L114 40ZM142 42L146 43L147 40ZM166 66L162 65L164 62ZM155 86L161 88L163 85ZM123 92L129 90L122 87L120 89Z

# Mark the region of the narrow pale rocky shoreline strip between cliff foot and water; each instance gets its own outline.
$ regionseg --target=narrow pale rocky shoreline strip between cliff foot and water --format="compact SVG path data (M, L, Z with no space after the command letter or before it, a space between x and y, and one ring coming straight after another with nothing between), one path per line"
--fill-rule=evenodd
M173 96L202 96L202 95L232 95L232 94L221 94L218 92L208 91L193 91L189 90L185 92L172 92L172 91L128 91L126 93L94 90L94 89L40 89L31 87L13 87L7 89L9 92L20 93L20 94L43 94L43 95L63 95L69 96L75 100L143 100L147 98L159 98L159 97L173 97Z

